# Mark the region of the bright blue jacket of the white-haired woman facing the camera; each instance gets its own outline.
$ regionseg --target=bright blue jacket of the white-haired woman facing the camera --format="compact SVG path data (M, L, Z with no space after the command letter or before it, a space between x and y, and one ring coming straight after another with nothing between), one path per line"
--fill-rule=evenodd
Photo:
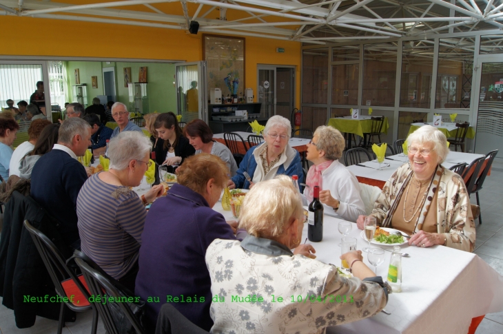
M236 188L249 189L249 182L243 175L243 171L246 171L249 174L251 180L254 179L255 170L257 168L258 161L260 161L258 154L260 150L263 149L264 145L266 144L263 143L256 145L254 147L251 147L246 152L245 157L239 164L239 169L236 172L236 175L232 177L232 181L236 185ZM254 153L256 149L258 150L256 151L256 153ZM300 154L298 154L296 149L291 148L290 145L287 145L287 147L285 147L285 152L283 154L286 155L287 160L282 165L279 165L279 167L274 167L273 169L271 169L271 171L269 171L269 173L267 174L267 178L262 178L262 180L270 180L276 175L285 174L290 177L296 175L298 176L299 183L304 182L304 174L302 173L302 162L300 161Z

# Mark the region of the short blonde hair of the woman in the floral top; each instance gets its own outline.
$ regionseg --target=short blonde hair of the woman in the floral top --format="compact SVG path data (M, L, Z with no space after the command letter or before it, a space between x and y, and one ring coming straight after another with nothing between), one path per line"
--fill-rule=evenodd
M303 221L300 194L285 175L258 182L246 195L239 217L239 227L259 238L279 238L290 218Z

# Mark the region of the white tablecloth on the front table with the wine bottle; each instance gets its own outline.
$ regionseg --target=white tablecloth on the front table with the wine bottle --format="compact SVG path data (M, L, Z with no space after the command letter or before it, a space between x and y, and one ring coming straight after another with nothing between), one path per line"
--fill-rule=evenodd
M365 168L365 167L362 167ZM221 202L214 209L227 220L230 211L223 211ZM313 242L317 260L340 267L342 237L337 230L338 218L325 216L323 240ZM349 236L358 240L357 248L367 242L360 238L360 230L353 224ZM307 224L302 240L307 238ZM391 247L384 247L391 249ZM391 315L379 313L369 319L329 328L327 333L372 334L466 334L473 317L503 311L503 277L489 264L473 253L443 246L420 248L402 247L402 292L389 295L386 310ZM391 252L386 252L384 263L378 267L378 275L387 276ZM364 262L367 261L364 253Z

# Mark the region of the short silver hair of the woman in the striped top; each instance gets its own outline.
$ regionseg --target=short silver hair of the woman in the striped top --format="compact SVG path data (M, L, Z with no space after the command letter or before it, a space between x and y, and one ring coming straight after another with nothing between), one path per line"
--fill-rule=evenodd
M121 132L108 143L110 169L122 171L131 160L143 160L152 149L150 139L137 131Z

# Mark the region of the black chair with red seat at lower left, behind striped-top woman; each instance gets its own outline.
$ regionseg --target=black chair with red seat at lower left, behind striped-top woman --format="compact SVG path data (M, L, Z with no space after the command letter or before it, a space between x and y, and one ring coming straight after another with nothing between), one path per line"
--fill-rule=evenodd
M82 275L77 277L76 273L70 269L64 260L63 255L57 249L57 247L52 243L52 241L45 236L44 233L35 229L28 220L24 221L25 229L30 232L30 236L33 239L37 250L47 268L49 275L56 288L56 293L61 298L67 298L68 302L61 303L61 311L59 312L59 324L58 324L58 334L63 331L63 326L65 326L65 310L68 309L75 312L85 312L92 309L92 328L91 333L96 334L96 327L98 326L98 315L96 314L96 309L94 305L90 304L87 286L83 282ZM76 285L78 289L74 289L73 286ZM74 300L70 302L70 296L74 295Z

